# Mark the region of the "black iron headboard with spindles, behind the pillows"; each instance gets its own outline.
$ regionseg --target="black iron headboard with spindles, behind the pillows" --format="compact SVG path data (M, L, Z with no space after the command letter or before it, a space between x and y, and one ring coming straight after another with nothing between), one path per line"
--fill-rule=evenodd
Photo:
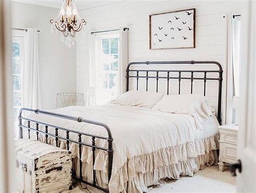
M163 65L163 64L215 64L219 67L219 70L130 70L130 66L132 65ZM136 75L129 75L129 72L136 72ZM139 75L139 72L146 72L146 75ZM156 76L149 76L149 72L156 72ZM166 76L159 76L159 72L166 72ZM170 77L170 72L177 72L177 76ZM191 73L190 77L181 77L181 73ZM202 77L194 77L194 73L198 72L203 73ZM218 78L207 78L207 73L219 73ZM169 94L169 80L170 79L178 79L178 94L180 94L180 81L181 79L191 80L191 91L193 93L193 80L204 80L204 96L206 92L206 80L218 80L219 88L218 88L218 111L217 111L217 119L219 123L221 123L221 90L222 90L222 81L223 81L223 69L217 61L144 61L144 62L133 62L130 63L126 68L126 91L129 91L129 78L137 79L137 90L139 88L139 78L146 79L146 91L148 88L148 80L156 79L156 91L158 92L158 80L159 79L167 79L167 94Z

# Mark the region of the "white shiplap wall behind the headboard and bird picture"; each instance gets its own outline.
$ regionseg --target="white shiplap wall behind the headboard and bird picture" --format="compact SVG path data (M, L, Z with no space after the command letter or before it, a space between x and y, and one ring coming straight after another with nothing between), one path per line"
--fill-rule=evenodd
M241 1L124 1L86 9L79 13L87 22L86 30L101 31L118 29L119 26L129 27L129 62L146 60L219 61L224 68L223 93L225 96L226 17L224 18L224 16L228 12L239 12L242 6ZM149 15L187 8L196 8L196 48L149 50ZM77 41L78 92L84 92L85 85L85 42L86 34L80 33ZM184 67L186 68L186 66ZM184 81L183 84L189 86L188 82ZM211 104L216 106L217 84L211 84L206 92ZM198 83L198 86L201 84ZM225 105L225 100L223 101L223 105Z

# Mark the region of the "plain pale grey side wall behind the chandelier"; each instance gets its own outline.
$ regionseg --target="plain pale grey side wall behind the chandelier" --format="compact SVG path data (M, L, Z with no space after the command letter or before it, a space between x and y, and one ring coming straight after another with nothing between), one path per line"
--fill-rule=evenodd
M51 33L50 19L59 9L12 2L12 27L36 28L42 109L56 108L56 93L76 92L76 46L71 48Z

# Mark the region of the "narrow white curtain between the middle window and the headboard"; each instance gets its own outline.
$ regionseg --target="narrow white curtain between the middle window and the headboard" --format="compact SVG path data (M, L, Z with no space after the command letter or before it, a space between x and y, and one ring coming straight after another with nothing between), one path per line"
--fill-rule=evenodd
M118 95L126 91L126 67L128 65L128 30L120 27L118 47Z

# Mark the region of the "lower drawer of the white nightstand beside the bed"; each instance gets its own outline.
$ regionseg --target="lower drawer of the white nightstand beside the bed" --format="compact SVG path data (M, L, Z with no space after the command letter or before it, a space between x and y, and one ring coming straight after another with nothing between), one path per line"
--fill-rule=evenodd
M224 158L223 161L229 162L237 160L237 145L230 143L220 143L220 155Z

